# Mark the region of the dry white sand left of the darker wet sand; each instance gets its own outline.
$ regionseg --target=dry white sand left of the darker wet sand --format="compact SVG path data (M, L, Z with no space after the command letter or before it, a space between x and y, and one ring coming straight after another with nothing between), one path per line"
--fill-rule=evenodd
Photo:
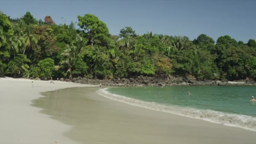
M49 118L30 104L41 97L40 92L88 86L95 85L0 78L0 144L78 144L63 135L71 126Z

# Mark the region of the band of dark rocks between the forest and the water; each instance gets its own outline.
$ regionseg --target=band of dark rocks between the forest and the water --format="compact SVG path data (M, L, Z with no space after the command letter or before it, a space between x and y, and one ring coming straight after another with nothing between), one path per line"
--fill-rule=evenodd
M147 77L138 76L133 78L117 78L112 80L98 80L88 78L72 78L74 83L91 84L91 85L106 85L106 86L172 86L172 85L255 85L254 81L244 81L244 83L228 83L228 80L213 81L205 80L198 81L194 77Z

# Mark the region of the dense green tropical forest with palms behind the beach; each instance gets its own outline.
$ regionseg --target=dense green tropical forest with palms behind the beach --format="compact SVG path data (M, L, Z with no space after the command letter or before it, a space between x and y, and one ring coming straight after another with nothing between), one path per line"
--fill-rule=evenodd
M51 16L37 21L0 13L0 76L117 78L139 75L194 76L197 80L256 79L256 41L136 35L131 27L110 35L92 14L77 16L78 26L56 25ZM10 22L11 21L11 22Z

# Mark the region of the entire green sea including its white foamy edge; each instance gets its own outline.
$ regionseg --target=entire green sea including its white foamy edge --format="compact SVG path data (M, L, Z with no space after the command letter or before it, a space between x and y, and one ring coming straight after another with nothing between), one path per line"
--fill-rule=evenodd
M97 92L138 107L256 131L253 86L120 87Z

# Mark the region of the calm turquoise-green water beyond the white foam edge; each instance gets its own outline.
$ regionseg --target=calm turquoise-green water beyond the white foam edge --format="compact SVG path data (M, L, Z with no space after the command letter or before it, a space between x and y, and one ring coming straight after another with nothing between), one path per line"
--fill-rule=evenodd
M178 105L198 109L211 109L256 117L255 87L245 86L176 86L109 88L109 92L143 101L165 105ZM188 91L191 94L188 94Z

